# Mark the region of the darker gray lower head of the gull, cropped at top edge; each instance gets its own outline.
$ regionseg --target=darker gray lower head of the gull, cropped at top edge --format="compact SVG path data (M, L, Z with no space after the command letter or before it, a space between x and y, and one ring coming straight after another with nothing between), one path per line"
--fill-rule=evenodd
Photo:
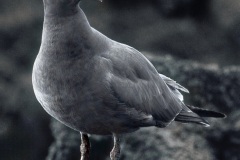
M79 9L80 0L43 0L45 15L68 16Z

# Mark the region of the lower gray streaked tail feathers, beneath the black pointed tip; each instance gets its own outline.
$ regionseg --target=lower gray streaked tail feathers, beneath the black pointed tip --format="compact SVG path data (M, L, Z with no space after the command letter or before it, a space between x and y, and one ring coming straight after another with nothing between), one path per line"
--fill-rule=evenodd
M175 117L175 121L181 122L181 123L196 123L204 125L205 127L210 126L208 121L200 117L194 112L181 110L181 112Z

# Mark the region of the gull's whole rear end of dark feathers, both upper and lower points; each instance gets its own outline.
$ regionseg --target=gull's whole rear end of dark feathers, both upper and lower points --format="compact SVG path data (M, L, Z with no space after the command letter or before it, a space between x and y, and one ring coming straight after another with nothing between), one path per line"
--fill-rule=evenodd
M204 125L206 127L210 126L208 121L202 117L225 118L226 116L215 111L209 111L193 106L184 105L181 112L176 116L175 121L182 123L196 123Z

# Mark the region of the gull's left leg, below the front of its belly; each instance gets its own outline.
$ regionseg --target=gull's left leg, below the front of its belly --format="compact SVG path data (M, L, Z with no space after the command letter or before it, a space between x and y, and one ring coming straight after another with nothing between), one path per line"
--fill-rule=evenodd
M81 134L81 160L89 160L90 156L90 141L87 134L80 133Z

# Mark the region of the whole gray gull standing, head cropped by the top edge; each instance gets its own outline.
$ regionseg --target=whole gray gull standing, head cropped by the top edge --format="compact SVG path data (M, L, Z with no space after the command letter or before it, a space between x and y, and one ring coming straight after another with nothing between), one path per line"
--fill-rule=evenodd
M139 51L92 28L80 0L43 0L44 24L32 82L37 100L52 117L81 133L113 135L110 157L120 157L119 135L172 121L208 126L202 117L225 117L183 103L188 90L159 74Z

